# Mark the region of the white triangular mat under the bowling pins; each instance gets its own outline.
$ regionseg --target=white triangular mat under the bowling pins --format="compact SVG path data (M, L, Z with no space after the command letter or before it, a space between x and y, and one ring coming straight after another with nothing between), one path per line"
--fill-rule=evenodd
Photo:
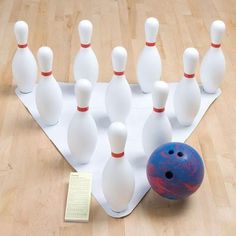
M29 94L22 94L16 89L16 94L37 121L48 138L54 143L64 158L76 171L88 171L93 173L92 193L101 204L106 213L112 217L124 217L130 214L150 188L146 178L146 161L142 143L141 133L143 124L152 112L151 94L141 93L138 85L131 85L133 100L132 110L127 120L128 138L125 149L125 158L131 163L135 173L135 192L127 210L113 212L106 203L101 187L101 177L106 160L110 158L110 146L107 137L107 129L110 121L105 112L105 92L107 83L97 83L92 94L90 112L95 118L99 137L96 150L91 161L86 165L75 165L67 145L67 128L73 114L76 112L76 101L74 97L74 85L72 83L59 83L62 89L64 104L60 121L55 126L46 126L41 120L35 105L35 90ZM201 118L211 103L221 94L206 94L202 91L202 102L200 111L190 127L182 127L178 124L173 113L173 93L176 83L169 83L170 93L167 100L166 112L173 127L173 141L184 142L196 128Z

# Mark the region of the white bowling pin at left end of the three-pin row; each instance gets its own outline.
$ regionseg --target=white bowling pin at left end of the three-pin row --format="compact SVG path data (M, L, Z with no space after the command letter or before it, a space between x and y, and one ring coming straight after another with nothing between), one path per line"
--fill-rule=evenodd
M49 47L38 50L41 77L36 88L35 102L46 125L55 125L61 116L63 98L61 88L52 73L53 52Z

